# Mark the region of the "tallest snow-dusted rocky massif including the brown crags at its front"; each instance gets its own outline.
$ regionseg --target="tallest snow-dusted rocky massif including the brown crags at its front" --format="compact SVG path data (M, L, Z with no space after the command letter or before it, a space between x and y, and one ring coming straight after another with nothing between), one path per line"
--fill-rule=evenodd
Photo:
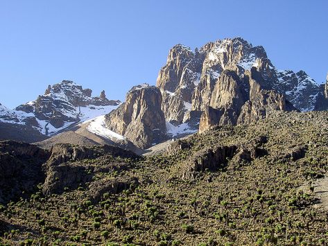
M209 42L195 51L174 46L159 71L157 87L166 120L180 125L195 121L193 112L203 112L200 132L216 121L247 123L271 110L311 111L322 104L324 94L307 73L276 69L262 46L241 38Z

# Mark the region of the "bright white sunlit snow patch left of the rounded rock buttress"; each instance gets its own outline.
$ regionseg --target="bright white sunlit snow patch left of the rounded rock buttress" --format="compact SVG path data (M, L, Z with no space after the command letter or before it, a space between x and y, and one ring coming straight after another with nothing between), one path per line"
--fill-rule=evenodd
M125 140L126 138L122 135L109 130L106 127L105 123L105 115L98 116L90 121L88 121L89 125L87 126L87 130L92 132L98 136L105 137L106 139L111 140Z

